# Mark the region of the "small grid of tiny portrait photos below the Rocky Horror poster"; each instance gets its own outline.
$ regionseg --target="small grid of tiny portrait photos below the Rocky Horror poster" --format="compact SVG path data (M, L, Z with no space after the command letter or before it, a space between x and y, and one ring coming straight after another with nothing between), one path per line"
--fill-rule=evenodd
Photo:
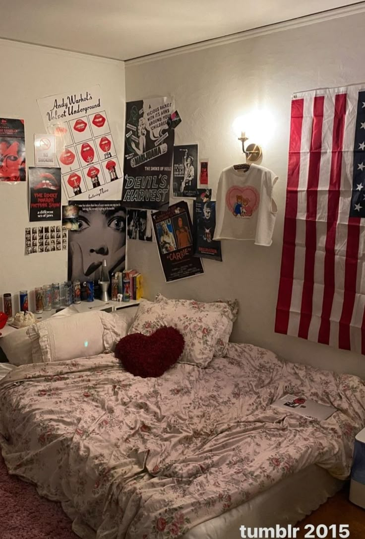
M67 230L65 226L32 226L25 229L26 254L66 250Z

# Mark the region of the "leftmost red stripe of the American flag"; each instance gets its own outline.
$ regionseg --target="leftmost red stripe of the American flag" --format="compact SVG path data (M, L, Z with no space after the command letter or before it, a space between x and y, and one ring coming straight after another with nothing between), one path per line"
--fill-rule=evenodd
M294 275L294 257L296 250L298 185L303 109L304 99L292 100L282 266L280 269L278 301L276 306L276 333L287 333L287 327L289 325L290 303Z

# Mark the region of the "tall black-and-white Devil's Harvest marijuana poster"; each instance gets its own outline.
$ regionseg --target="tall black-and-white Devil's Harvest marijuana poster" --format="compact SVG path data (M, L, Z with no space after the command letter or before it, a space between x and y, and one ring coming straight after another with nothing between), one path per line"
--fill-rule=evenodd
M157 210L169 204L174 129L170 98L130 101L126 105L122 204Z

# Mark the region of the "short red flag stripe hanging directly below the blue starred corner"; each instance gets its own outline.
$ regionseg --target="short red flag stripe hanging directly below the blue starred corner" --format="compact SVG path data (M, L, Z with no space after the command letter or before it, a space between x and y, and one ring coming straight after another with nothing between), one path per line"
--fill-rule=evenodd
M339 322L339 348L351 350L350 323L356 298L356 275L360 241L360 218L349 217L343 305Z

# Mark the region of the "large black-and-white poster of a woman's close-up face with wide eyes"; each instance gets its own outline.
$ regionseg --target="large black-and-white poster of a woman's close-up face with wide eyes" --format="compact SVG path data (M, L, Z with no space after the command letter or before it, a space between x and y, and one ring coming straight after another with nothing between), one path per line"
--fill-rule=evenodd
M111 274L125 268L127 210L120 200L69 201L79 212L68 231L68 280L79 280L84 297L87 282L93 281L95 299L100 297L98 281L103 260Z

